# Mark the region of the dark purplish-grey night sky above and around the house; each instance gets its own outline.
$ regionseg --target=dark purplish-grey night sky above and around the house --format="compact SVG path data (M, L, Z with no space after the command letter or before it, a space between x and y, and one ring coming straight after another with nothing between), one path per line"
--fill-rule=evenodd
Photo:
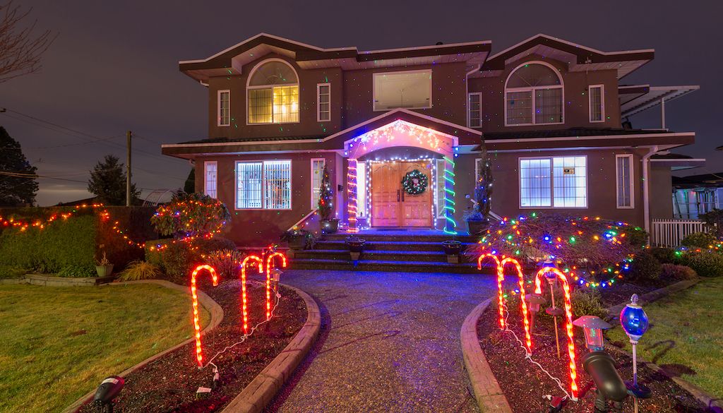
M708 160L682 174L723 171L723 151L714 151L723 145L722 1L16 3L33 6L38 27L59 37L39 74L0 85L0 107L87 134L67 135L12 119L27 120L12 112L0 114L0 124L20 141L39 174L67 179L40 179L40 205L89 197L88 171L108 153L124 161L127 129L138 136L133 172L143 196L182 187L189 163L161 156L160 145L206 137L208 90L181 74L178 61L208 57L262 32L359 50L489 40L495 53L536 33L602 51L654 48L655 60L623 83L701 85L666 105L667 127L696 132L696 144L676 152ZM659 111L631 121L635 128L659 127ZM112 139L87 143L100 137ZM43 148L57 145L67 146Z

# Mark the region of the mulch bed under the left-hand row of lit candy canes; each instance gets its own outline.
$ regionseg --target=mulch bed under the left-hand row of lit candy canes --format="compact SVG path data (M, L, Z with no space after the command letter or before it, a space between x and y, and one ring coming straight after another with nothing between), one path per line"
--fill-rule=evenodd
M225 281L200 288L223 308L223 321L202 336L203 361L241 339L241 282ZM125 378L116 399L116 412L216 412L236 397L268 365L307 320L304 300L293 290L281 287L281 299L270 322L262 325L244 343L229 349L213 361L220 380L210 393L197 395L199 387L213 387L213 366L197 367L195 342L166 354ZM253 284L249 294L249 329L266 318L264 286ZM191 302L189 299L189 307ZM189 335L193 322L189 320ZM86 404L81 412L97 412Z

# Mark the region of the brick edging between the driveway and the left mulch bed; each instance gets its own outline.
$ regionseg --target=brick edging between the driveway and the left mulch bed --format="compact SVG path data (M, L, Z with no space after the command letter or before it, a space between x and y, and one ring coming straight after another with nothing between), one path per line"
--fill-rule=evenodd
M296 367L307 356L314 345L321 329L321 312L319 306L309 294L292 286L284 285L294 290L304 299L307 306L307 321L301 327L294 339L291 340L278 356L275 357L261 372L239 393L221 413L259 413L281 390L283 383L291 377Z

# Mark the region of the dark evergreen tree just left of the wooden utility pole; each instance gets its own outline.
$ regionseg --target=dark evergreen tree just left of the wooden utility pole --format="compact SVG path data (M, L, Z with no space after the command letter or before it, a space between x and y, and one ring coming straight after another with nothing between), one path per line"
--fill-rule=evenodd
M88 192L106 205L126 205L126 174L124 164L116 156L106 155L90 171ZM140 191L131 184L131 204L139 203Z

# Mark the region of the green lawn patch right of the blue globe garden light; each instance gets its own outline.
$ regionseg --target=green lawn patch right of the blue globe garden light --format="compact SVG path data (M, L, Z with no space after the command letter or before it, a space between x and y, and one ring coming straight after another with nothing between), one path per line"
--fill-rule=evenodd
M723 396L722 294L723 278L704 278L690 289L645 305L651 327L638 344L638 354L682 372L680 377L714 396ZM631 351L622 328L607 336L625 342Z

